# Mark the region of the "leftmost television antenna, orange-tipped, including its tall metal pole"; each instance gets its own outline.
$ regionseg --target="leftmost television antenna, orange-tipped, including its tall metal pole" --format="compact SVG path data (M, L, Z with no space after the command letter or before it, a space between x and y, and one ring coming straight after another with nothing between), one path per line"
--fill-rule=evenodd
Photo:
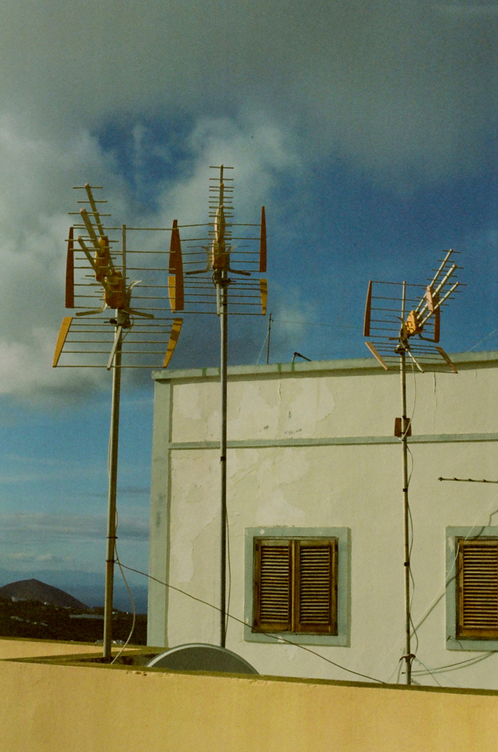
M65 274L65 307L76 309L74 316L62 319L53 356L53 366L112 369L111 431L108 455L108 536L105 570L103 655L111 658L112 605L116 546L117 450L119 440L122 368L166 368L182 319L172 319L166 300L167 284L161 284L168 268L163 250L146 250L144 235L150 230L105 226L94 190L102 186L75 186L85 190L85 204L68 234ZM74 229L82 234L74 240ZM129 232L140 232L136 247L129 247ZM110 232L119 232L112 239ZM136 235L135 235L136 237ZM129 281L128 274L139 272L140 279ZM109 311L113 311L110 315ZM125 362L123 362L123 356Z

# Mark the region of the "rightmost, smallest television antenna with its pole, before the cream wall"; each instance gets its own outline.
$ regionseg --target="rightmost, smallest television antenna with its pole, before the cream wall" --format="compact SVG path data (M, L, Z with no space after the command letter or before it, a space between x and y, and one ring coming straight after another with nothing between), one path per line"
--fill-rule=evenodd
M405 539L405 655L406 683L411 684L411 604L410 604L410 507L408 504L408 437L411 435L411 419L406 414L406 357L421 373L424 368L433 368L438 362L457 368L442 347L439 347L441 308L457 292L460 282L452 256L453 249L439 259L439 267L427 286L406 282L370 281L366 296L363 336L369 337L366 347L387 371L389 365L399 360L401 376L402 417L396 418L394 435L402 443L403 462L403 508Z

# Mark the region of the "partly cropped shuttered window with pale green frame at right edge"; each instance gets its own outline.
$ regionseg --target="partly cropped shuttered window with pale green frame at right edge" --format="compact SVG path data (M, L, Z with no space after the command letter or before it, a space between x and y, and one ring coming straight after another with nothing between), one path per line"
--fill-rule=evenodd
M498 650L498 526L446 529L446 647Z

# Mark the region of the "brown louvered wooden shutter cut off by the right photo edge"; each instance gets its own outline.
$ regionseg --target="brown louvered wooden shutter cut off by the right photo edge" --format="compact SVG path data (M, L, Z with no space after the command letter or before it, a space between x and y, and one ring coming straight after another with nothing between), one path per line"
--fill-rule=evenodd
M457 539L457 639L498 638L498 539Z

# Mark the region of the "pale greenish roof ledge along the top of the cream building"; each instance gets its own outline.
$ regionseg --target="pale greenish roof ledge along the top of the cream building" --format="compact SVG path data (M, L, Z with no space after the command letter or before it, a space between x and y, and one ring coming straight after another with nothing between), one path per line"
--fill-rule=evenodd
M496 363L498 366L498 350L483 350L478 353L450 353L450 359L455 365L464 366L467 365L472 368L492 365ZM441 366L438 366L434 370L446 371L448 368L442 362ZM384 371L384 368L374 358L349 358L339 360L312 360L299 363L269 363L269 365L230 365L228 368L229 376L249 376L252 374L305 374L305 373L317 373L326 371L350 371L353 372L368 372L373 373L388 373L393 372L393 368L390 371ZM431 369L433 370L433 369ZM187 381L188 379L214 379L219 378L220 368L178 368L168 369L162 368L160 371L153 371L152 378L154 381Z

